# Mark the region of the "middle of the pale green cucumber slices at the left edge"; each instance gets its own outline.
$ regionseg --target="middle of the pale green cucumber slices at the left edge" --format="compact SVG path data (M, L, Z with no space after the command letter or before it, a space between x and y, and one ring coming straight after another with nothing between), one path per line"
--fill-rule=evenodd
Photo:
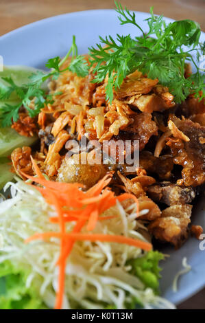
M37 136L24 137L10 127L0 128L0 157L7 157L17 147L32 146Z

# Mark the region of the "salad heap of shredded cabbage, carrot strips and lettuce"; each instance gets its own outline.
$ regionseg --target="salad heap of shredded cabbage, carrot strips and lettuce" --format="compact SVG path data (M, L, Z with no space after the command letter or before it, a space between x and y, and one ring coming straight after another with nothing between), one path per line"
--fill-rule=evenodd
M109 175L84 192L45 179L33 163L38 176L8 184L12 198L1 202L1 309L173 308L158 296L163 256L152 250L136 197L115 197Z

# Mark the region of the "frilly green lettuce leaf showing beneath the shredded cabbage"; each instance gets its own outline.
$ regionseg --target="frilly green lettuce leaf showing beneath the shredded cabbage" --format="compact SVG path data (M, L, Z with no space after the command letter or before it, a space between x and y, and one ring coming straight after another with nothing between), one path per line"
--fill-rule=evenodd
M157 295L159 292L160 267L159 261L164 256L157 251L150 251L141 258L128 261L132 267L130 274L138 277L145 285L145 288L151 288ZM40 297L40 286L32 284L27 287L27 277L31 274L29 267L16 267L10 260L4 260L0 263L0 309L47 309ZM104 309L117 309L114 304L98 302ZM73 304L74 305L74 304ZM140 299L130 297L130 302L126 302L126 309L143 309ZM80 304L75 304L76 309L82 309Z

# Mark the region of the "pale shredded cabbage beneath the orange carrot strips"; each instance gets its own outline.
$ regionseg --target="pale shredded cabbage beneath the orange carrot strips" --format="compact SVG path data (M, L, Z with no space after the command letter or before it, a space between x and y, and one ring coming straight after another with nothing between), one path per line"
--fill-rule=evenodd
M57 232L58 224L49 222L49 216L56 216L56 210L35 188L16 180L5 186L5 189L10 186L12 198L1 202L0 265L10 261L14 268L26 269L26 289L35 287L41 304L53 308L58 290L59 240L50 238L28 245L24 240L36 232ZM93 232L123 234L147 241L143 223L136 221L135 208L134 203L125 210L117 202L104 215L118 216L98 221ZM67 232L74 224L67 223ZM86 232L86 227L82 232ZM136 304L145 309L174 309L173 304L156 294L156 266L160 257L159 253L149 253L119 243L76 241L67 259L63 309L130 309Z

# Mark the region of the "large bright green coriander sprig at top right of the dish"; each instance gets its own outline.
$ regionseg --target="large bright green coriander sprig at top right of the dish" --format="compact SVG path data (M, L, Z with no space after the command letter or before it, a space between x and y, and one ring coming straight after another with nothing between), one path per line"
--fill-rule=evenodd
M169 87L177 103L182 102L190 93L197 97L205 96L204 75L200 74L193 56L200 59L204 45L200 44L200 25L189 19L165 23L162 16L154 16L153 8L146 19L148 30L143 31L136 22L134 12L115 1L121 25L131 23L142 33L132 38L117 34L117 41L112 36L99 37L97 47L90 48L91 66L96 73L93 82L102 82L108 74L106 98L112 102L113 87L119 89L123 79L136 69L147 74L148 78L158 78L159 83ZM184 45L188 50L184 49ZM186 62L191 61L196 72L189 78L184 77ZM200 94L202 91L202 96Z

